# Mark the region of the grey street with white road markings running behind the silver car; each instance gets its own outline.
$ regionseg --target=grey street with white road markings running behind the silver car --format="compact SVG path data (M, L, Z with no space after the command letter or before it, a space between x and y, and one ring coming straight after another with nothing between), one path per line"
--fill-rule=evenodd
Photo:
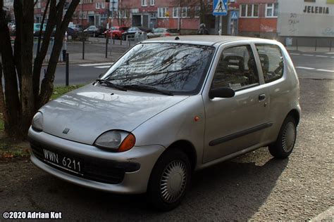
M120 54L119 54L120 55ZM334 79L334 53L290 53L299 78ZM106 72L110 62L70 64L70 84L85 84L94 81L99 74ZM56 85L65 84L65 65L58 65Z

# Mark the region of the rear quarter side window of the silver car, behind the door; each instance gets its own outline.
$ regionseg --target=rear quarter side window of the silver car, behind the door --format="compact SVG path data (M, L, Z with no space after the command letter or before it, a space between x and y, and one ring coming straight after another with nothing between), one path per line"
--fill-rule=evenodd
M284 63L280 47L271 44L256 44L264 72L264 82L268 83L283 76Z

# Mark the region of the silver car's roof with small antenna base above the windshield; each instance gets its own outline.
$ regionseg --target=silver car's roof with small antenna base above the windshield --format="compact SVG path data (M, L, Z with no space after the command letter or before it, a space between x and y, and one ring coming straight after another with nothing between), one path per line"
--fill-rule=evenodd
M220 36L220 35L182 35L176 37L161 37L154 39L147 39L143 42L161 42L161 43L183 43L183 44L199 44L206 46L213 46L214 44L224 44L231 41L260 41L263 43L274 43L276 41L268 40L268 39L259 39L252 37L236 37L236 36Z

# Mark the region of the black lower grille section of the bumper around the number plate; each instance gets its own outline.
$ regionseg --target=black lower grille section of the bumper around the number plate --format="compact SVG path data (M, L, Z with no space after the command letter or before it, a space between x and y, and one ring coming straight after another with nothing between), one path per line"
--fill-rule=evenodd
M37 157L37 159L41 160L45 164L48 164L49 166L52 166L60 171L64 171L67 174L71 174L81 178L86 178L91 181L117 184L123 181L125 172L137 171L138 169L140 169L140 164L137 163L116 162L107 159L99 159L96 157L79 155L78 153L73 153L73 152L63 152L62 150L59 150L57 148L50 148L49 145L47 146L42 145L37 141L30 140L30 145L35 157ZM60 166L56 166L54 164L50 164L49 162L45 162L43 155L43 148L46 148L51 152L56 152L59 155L63 155L66 157L73 157L83 162L84 166L82 167L82 175L75 174L71 171L61 168Z

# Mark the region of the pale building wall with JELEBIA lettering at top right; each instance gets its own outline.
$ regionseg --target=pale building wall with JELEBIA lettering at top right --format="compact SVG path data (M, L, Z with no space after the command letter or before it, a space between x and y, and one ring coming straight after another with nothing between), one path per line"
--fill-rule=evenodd
M334 42L334 0L278 0L278 36L299 46ZM298 43L297 43L298 41Z

